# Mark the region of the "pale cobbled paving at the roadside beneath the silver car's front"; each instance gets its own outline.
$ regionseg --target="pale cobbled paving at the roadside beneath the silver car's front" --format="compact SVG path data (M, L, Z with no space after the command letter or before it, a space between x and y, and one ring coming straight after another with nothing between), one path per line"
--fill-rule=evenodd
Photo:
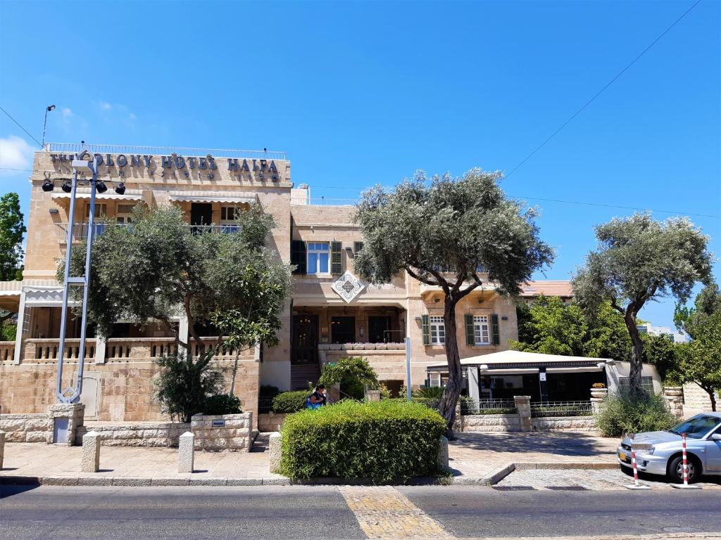
M712 477L698 482L704 490L721 490L721 480ZM645 475L640 479L642 484L654 490L673 490L671 484L661 477ZM633 483L633 477L619 469L583 470L583 469L527 469L514 471L495 486L499 490L534 489L534 490L623 490L625 485Z

